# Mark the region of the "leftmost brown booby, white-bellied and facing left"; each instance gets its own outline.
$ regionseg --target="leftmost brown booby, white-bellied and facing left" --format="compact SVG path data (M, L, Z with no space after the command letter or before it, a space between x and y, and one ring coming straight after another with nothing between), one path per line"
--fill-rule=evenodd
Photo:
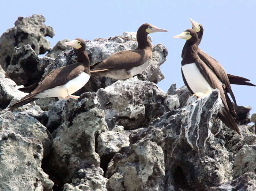
M16 102L10 109L23 106L38 98L58 97L75 98L73 96L77 90L81 89L90 79L90 60L85 51L85 42L83 39L75 39L70 42L65 42L66 45L76 48L77 62L52 70L38 84L36 89L29 95Z

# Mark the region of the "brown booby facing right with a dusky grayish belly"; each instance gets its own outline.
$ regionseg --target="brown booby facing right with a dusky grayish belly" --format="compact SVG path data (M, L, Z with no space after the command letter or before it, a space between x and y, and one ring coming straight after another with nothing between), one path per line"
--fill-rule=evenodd
M114 79L127 79L140 74L150 65L152 44L149 33L167 32L165 29L145 23L137 31L138 48L116 52L107 59L91 66L91 72Z

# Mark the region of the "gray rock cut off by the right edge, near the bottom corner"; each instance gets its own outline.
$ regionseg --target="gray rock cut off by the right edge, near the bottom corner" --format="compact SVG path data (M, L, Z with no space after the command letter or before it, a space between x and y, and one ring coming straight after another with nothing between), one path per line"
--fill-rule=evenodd
M244 173L255 171L256 169L256 145L243 145L236 155L234 161L234 176L238 177Z

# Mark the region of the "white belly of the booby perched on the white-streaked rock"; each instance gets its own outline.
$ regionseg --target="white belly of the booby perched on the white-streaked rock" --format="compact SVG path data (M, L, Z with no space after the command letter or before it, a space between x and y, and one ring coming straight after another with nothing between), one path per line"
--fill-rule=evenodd
M213 90L213 88L208 84L201 72L198 70L196 63L185 64L181 67L181 69L188 83L188 86L194 93L206 93L207 90Z

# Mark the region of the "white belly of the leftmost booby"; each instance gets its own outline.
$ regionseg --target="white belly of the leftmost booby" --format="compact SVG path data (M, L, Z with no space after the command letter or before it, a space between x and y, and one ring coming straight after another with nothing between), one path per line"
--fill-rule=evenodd
M77 90L81 89L90 79L90 75L85 72L82 72L79 76L68 81L67 84L57 86L52 89L45 90L36 95L36 98L54 98L58 97L59 99L64 99L68 96L68 92L71 95ZM68 92L67 92L68 90Z

